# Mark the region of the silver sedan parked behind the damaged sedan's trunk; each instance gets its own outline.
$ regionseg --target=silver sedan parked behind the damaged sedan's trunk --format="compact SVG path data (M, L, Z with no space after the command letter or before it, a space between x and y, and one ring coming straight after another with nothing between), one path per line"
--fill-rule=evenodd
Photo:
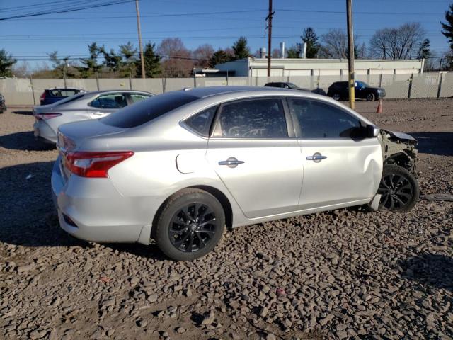
M35 137L57 142L57 129L64 123L105 117L120 108L154 96L144 91L94 91L75 94L50 105L35 106Z

